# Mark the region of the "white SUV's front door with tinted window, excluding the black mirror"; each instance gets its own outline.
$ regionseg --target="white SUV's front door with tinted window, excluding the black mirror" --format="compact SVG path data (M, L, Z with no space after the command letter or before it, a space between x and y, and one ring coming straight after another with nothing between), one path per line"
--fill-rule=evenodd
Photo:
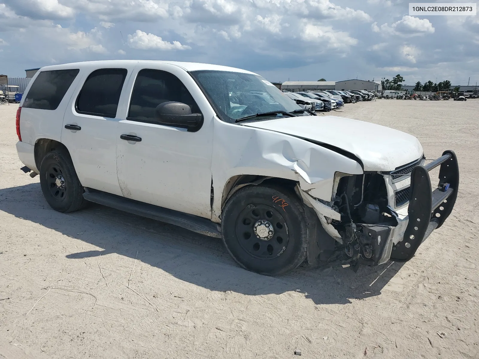
M213 122L195 101L194 96L201 97L195 91L193 79L179 67L138 71L127 117L116 132L118 180L127 198L210 218ZM156 123L155 109L166 101L202 112L203 126L187 132Z

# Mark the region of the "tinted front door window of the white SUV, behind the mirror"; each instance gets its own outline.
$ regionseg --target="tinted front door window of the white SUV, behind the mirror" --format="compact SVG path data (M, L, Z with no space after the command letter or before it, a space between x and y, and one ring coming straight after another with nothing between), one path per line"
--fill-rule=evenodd
M175 75L160 70L141 70L135 81L127 119L156 122L156 107L168 101L186 103L192 113L200 113L190 92Z

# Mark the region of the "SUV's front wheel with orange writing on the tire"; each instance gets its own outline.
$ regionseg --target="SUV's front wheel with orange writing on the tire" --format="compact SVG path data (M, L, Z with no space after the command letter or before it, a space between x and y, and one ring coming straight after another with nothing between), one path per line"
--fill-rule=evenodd
M262 224L255 229L259 221ZM226 203L222 222L223 243L244 269L282 275L306 259L306 214L293 191L267 185L243 187Z

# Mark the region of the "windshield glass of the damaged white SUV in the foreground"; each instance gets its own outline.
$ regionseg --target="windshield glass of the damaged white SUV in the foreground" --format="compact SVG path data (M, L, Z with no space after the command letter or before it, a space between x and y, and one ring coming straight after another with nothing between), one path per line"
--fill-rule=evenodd
M301 110L271 82L261 76L230 71L192 71L221 120L235 120L257 113Z

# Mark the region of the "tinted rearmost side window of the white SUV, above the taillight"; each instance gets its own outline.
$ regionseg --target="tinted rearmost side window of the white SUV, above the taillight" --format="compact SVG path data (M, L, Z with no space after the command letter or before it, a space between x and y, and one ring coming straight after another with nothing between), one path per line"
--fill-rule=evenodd
M42 71L23 101L23 107L56 110L80 70Z

